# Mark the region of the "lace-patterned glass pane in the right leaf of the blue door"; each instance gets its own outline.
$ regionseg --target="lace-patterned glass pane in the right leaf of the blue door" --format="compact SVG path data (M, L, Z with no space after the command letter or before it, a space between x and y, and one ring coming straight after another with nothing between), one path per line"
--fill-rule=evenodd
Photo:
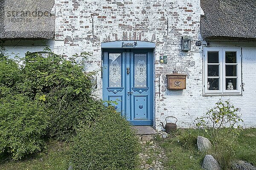
M134 87L147 87L147 54L134 54Z

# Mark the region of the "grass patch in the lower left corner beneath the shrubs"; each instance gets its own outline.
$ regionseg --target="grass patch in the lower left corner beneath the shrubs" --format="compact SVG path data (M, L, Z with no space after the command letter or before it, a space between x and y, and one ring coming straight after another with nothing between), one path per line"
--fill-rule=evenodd
M67 170L70 147L67 142L50 141L45 152L26 157L20 161L0 160L1 170Z

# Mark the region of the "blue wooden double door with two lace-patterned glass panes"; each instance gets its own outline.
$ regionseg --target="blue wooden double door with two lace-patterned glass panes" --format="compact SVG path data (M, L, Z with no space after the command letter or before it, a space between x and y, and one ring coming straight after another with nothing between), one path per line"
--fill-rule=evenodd
M153 125L153 51L103 51L103 100L132 125Z

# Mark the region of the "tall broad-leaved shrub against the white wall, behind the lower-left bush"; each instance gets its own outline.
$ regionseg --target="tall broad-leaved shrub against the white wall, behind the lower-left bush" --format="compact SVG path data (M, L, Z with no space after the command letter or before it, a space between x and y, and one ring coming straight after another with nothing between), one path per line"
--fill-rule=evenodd
M68 140L76 135L79 122L95 119L95 115L89 115L93 105L93 73L84 74L83 67L76 64L74 58L66 60L52 52L29 53L24 62L19 90L31 99L44 101L50 117L51 137Z

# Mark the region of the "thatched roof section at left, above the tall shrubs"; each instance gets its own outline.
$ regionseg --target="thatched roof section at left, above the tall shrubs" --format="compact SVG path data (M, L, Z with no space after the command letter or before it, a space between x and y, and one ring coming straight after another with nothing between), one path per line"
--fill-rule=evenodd
M0 0L0 39L53 39L53 6L54 0Z

